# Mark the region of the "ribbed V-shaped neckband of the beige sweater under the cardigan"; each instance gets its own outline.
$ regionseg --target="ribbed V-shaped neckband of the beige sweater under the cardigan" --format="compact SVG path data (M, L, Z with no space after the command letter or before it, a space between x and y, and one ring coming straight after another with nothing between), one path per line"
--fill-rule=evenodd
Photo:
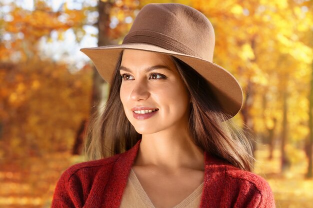
M149 197L147 196L147 194L143 190L143 188L142 188L136 174L132 170L132 168L131 168L130 173L129 173L129 179L132 182L135 190L137 191L140 199L142 200L142 202L144 203L146 208L155 208L154 205L152 204L151 200L149 199ZM185 208L192 201L194 201L198 196L201 196L202 189L203 189L203 182L189 196L187 196L184 200L182 200L180 203L178 203L173 208Z

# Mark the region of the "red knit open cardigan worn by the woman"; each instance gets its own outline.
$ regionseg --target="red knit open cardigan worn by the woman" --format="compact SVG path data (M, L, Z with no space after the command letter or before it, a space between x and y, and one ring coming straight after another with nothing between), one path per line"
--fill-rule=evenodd
M119 208L139 144L110 158L69 167L54 190L51 208ZM274 208L261 177L204 152L200 208Z

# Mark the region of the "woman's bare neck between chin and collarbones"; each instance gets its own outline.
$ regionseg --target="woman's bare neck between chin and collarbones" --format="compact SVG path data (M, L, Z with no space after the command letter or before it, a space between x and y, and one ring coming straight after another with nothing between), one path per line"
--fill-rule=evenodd
M158 132L142 135L134 165L154 166L172 172L184 168L203 170L204 153L184 131Z

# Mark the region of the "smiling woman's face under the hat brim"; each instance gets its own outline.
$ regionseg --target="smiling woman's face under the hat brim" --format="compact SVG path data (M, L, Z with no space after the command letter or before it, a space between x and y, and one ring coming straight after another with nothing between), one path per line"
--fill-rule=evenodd
M189 95L169 56L124 50L119 70L120 100L139 134L187 127Z

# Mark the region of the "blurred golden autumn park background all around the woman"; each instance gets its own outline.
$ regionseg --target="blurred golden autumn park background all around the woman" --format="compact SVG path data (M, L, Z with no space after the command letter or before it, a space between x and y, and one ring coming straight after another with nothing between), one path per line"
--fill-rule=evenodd
M0 208L49 208L60 174L84 161L82 134L108 87L79 48L121 43L150 2L0 0ZM254 172L277 208L313 208L313 1L157 2L209 18L213 61L244 91L234 119L254 136Z

